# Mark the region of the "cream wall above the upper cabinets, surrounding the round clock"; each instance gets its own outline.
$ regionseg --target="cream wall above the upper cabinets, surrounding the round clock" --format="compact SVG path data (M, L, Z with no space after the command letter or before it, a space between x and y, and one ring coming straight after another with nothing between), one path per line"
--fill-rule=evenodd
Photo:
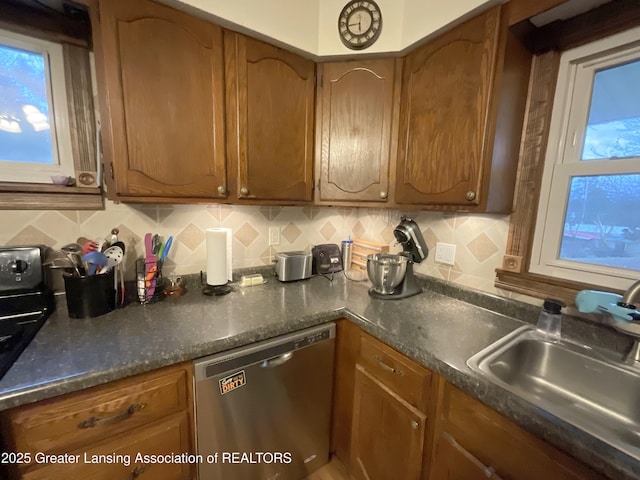
M338 15L347 0L162 0L221 21L229 28L260 32L316 57L399 52L497 0L376 0L382 11L378 41L361 52L338 37Z

